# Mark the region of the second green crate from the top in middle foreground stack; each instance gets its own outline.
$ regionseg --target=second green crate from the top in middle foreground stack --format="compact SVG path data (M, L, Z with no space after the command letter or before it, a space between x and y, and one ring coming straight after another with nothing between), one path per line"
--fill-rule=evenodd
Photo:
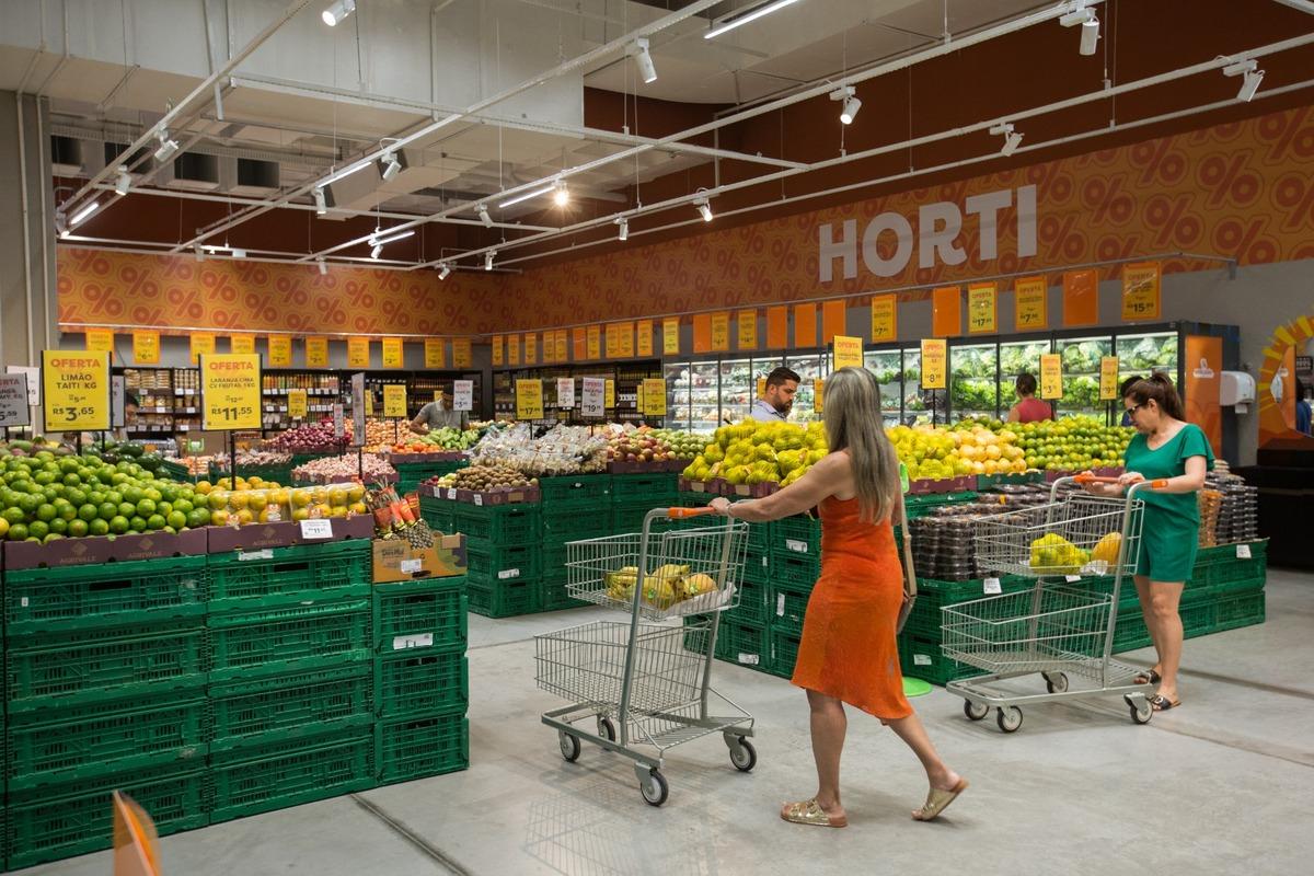
M338 666L374 650L368 599L212 615L208 625L215 684Z

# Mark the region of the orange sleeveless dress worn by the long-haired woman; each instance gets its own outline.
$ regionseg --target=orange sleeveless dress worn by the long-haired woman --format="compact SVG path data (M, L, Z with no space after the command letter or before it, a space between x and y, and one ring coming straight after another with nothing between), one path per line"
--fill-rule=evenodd
M883 720L912 714L895 626L903 566L890 520L865 523L858 500L821 503L821 577L803 619L794 684Z

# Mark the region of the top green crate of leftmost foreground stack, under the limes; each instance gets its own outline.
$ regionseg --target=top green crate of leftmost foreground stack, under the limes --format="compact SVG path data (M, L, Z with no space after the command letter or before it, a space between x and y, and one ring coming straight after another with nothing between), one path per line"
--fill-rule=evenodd
M101 629L202 617L206 557L170 557L5 573L5 634Z

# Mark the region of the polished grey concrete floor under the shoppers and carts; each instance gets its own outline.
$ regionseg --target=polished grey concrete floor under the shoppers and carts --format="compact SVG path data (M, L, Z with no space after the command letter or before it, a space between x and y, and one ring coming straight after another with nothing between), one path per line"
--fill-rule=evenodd
M700 739L673 750L670 801L653 809L620 756L586 747L565 763L539 722L557 701L535 687L532 634L598 616L470 619L469 771L168 837L164 872L1259 876L1314 858L1314 577L1271 571L1267 624L1188 641L1184 707L1148 726L1105 697L1028 708L1004 735L938 688L915 700L972 780L938 823L908 818L925 793L912 755L850 713L846 830L779 821L781 801L815 789L804 696L724 663L716 686L758 720L752 775ZM102 876L110 860L24 872Z

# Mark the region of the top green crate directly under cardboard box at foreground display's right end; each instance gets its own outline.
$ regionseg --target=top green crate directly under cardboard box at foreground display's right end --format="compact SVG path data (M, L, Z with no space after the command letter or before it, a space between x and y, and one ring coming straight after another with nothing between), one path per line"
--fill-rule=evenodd
M465 577L374 584L374 649L465 650Z

